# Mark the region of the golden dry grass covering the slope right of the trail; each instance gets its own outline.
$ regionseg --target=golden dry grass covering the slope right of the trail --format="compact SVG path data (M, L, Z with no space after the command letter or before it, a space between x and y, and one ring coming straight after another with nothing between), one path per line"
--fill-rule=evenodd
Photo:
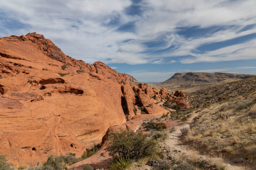
M201 152L223 153L235 158L236 155L245 154L246 150L247 155L255 158L256 150L255 157L254 150L249 154L249 148L256 149L256 144L253 145L256 142L256 118L251 116L256 113L256 104L252 104L255 102L253 97L249 95L247 100L242 101L242 97L239 97L205 108L201 118L190 125L185 140Z

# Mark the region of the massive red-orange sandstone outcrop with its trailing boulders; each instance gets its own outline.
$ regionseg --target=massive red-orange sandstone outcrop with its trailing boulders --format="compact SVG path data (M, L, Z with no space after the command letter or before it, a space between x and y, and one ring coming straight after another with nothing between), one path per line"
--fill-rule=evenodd
M159 102L190 107L182 91L130 82L137 80L102 62L65 55L44 35L0 38L0 155L16 166L52 153L79 157L102 143L110 127L139 118L142 106L150 114L143 118L168 113Z

